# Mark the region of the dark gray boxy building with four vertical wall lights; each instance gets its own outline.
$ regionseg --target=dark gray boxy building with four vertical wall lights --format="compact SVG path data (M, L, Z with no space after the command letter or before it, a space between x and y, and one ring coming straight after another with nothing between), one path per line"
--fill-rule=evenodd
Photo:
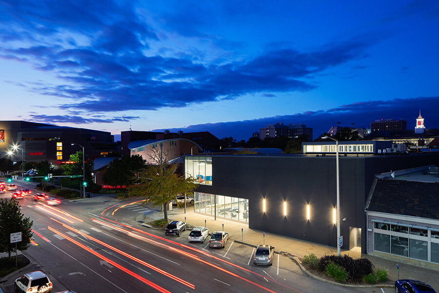
M360 142L359 142L360 143ZM374 175L439 162L439 154L340 156L342 249L366 252L365 202ZM335 247L334 155L186 156L197 178L195 211L249 228Z

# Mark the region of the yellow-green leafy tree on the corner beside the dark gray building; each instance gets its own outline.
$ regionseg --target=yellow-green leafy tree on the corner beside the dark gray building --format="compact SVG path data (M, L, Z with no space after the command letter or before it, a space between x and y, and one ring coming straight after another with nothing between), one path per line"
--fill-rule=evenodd
M197 188L195 179L184 178L174 172L174 168L163 168L160 165L148 165L139 173L136 184L128 188L130 196L141 196L145 203L153 207L164 206L164 219L168 221L167 205L177 201L178 194L187 194Z

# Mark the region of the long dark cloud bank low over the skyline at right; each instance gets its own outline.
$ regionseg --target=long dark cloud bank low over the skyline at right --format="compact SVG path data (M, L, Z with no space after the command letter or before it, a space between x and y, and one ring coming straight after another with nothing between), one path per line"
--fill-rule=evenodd
M313 128L314 138L320 133L327 132L331 126L341 122L341 126L370 128L370 123L378 119L404 119L407 129L414 129L416 118L421 115L425 118L426 128L439 128L439 116L436 109L439 107L439 97L419 97L412 99L394 99L389 101L367 101L340 105L338 107L307 111L291 115L266 117L254 120L208 123L191 125L184 128L167 128L171 131L183 130L185 132L210 131L219 138L232 136L235 139L247 140L253 132L276 122L288 124L305 124ZM155 131L163 131L156 129Z

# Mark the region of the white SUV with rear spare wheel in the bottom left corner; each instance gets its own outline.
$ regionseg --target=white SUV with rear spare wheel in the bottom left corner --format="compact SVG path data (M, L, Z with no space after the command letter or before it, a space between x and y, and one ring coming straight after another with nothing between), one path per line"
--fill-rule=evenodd
M25 273L21 278L15 280L15 292L45 293L52 291L52 282L41 271Z

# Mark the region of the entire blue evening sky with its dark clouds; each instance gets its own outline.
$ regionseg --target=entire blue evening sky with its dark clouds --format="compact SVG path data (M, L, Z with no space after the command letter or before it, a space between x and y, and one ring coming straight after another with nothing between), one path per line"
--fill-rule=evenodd
M1 120L439 128L439 1L0 0Z

